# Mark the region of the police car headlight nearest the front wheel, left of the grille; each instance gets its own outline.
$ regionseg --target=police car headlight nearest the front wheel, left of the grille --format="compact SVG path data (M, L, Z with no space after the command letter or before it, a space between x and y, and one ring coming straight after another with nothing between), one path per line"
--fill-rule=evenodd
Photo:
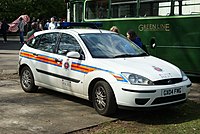
M133 85L153 85L153 82L141 75L133 73L122 73L123 76Z

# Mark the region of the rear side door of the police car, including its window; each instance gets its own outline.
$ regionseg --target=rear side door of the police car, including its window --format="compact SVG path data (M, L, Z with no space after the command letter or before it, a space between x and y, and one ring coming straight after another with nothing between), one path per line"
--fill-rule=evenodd
M37 81L50 86L57 86L58 79L54 77L56 70L62 68L62 62L59 62L59 56L55 53L59 33L45 33L35 44L34 67Z

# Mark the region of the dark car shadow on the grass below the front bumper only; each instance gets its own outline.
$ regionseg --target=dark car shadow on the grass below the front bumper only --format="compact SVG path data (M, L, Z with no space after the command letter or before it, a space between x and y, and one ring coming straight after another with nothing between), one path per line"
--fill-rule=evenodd
M136 121L148 125L178 124L200 119L200 103L188 100L184 104L172 107L132 111L119 110L115 116L120 120Z

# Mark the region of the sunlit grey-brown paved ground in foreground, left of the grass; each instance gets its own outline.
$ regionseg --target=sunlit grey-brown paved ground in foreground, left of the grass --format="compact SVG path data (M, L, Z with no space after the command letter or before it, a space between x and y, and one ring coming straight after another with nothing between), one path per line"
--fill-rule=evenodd
M46 89L25 93L16 80L2 83L1 134L69 133L116 119L100 116L86 100Z

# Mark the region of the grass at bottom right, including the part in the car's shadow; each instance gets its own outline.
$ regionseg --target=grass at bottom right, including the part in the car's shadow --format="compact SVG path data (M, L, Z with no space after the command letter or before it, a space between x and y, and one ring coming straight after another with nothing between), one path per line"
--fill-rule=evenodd
M127 115L121 117L121 114ZM119 111L117 121L74 134L199 134L200 103L188 100L173 108L151 111Z

